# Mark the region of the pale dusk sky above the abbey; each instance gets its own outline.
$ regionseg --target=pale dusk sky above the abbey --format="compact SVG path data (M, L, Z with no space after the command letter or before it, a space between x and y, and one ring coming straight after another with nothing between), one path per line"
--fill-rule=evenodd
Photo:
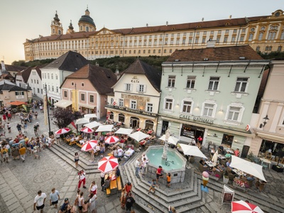
M0 58L6 64L24 60L26 38L50 35L50 23L58 11L64 33L72 20L75 31L78 21L89 7L97 31L169 24L213 21L217 19L268 16L282 9L281 0L1 0Z

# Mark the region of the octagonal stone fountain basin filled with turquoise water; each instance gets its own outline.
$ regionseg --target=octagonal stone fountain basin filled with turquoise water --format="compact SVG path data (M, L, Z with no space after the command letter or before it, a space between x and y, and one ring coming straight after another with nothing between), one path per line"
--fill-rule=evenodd
M155 179L155 172L159 165L163 167L163 180L159 182L166 183L166 174L170 173L171 183L184 182L185 180L185 165L187 160L175 149L168 148L168 158L165 161L162 160L163 146L150 146L146 151L149 163L147 166L148 172L146 176L151 179Z

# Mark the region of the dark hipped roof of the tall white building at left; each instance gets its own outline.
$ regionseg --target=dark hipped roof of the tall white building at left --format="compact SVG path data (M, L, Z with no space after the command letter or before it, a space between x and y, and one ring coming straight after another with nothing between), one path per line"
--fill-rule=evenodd
M85 59L80 53L68 51L43 67L43 69L58 68L58 70L75 72L87 64L87 59Z

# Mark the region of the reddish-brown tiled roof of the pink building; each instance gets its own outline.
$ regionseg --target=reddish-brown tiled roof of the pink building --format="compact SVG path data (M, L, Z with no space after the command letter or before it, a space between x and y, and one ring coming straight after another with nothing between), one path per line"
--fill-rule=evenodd
M111 87L116 83L116 75L114 75L114 72L107 68L95 65L85 65L80 70L72 73L66 78L88 79L99 94L107 94L111 92Z

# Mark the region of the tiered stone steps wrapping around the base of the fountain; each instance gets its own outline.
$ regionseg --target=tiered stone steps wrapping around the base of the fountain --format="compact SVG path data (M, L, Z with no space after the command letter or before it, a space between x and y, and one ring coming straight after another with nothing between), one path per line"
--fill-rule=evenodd
M192 209L200 208L204 206L202 201L202 192L200 189L200 180L197 180L197 175L194 175L192 170L192 177L190 180L190 186L186 189L165 192L159 187L156 188L155 194L151 192L148 195L148 189L151 184L143 180L142 175L140 179L136 178L134 162L140 155L131 158L125 165L123 170L127 177L127 181L132 182L133 193L136 197L139 197L137 202L140 206L148 212L167 212L168 206L172 205L177 209L178 212L188 212Z

